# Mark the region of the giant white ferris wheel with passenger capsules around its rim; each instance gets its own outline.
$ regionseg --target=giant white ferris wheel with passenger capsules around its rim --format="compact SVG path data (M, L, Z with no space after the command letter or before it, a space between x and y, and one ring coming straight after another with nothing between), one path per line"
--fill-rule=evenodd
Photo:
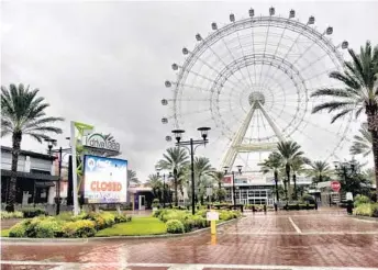
M253 169L262 153L288 139L312 159L337 158L352 114L331 124L327 114L311 111L332 98L310 95L340 86L329 74L343 69L348 43L334 45L333 27L316 30L314 16L302 23L294 10L280 16L274 8L259 16L251 9L242 20L230 14L230 23L213 22L211 29L205 37L194 36L193 49L182 48L182 64L171 65L176 79L165 81L171 97L162 100L170 109L162 122L175 128L210 126L221 168L237 160Z

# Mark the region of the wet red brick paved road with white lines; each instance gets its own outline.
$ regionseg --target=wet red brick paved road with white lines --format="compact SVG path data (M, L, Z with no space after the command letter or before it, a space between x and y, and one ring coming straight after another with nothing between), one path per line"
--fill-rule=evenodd
M81 244L5 244L1 269L378 269L378 222L344 212L247 214L209 233Z

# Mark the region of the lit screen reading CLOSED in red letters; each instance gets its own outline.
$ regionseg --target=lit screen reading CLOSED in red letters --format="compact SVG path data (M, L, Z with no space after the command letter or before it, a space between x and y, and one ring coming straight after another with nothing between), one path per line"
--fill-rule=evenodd
M124 203L127 195L127 160L85 156L84 198L88 203Z

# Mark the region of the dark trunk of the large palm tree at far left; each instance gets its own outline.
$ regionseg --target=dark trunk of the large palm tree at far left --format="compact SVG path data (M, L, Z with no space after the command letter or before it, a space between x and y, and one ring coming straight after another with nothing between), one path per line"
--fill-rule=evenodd
M15 195L16 195L16 182L18 182L18 164L19 164L19 155L21 148L21 139L22 133L16 132L13 133L12 136L12 168L11 168L11 179L9 181L9 190L8 190L8 200L5 211L14 212L14 203L15 203Z

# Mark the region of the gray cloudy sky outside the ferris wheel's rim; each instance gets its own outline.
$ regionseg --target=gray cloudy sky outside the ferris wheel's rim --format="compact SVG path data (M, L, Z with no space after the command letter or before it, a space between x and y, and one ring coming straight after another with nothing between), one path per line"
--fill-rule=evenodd
M210 33L211 22L227 23L230 12L247 15L253 7L267 14L296 9L301 21L316 18L320 29L332 25L335 41L358 47L378 44L378 2L125 2L3 1L1 8L1 83L40 88L52 104L48 113L93 124L112 133L123 157L144 180L169 146L170 126L160 119L169 98L164 87L174 79L171 63L181 63L181 48L192 48L194 34ZM4 139L10 144L10 139ZM25 149L44 146L24 138Z

